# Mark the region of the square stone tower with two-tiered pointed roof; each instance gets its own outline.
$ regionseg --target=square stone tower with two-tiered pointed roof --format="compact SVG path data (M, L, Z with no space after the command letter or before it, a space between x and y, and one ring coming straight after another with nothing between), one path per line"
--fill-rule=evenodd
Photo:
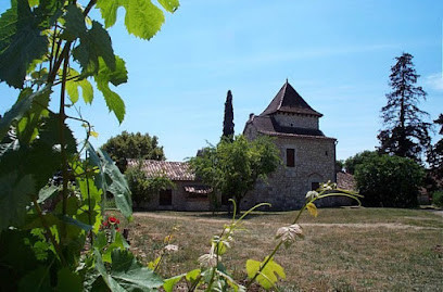
M251 114L243 135L248 139L260 135L274 137L283 164L266 182L257 182L244 198L244 206L268 202L273 210L299 208L307 191L317 189L321 182L336 181L337 140L319 129L321 116L288 80L262 114Z

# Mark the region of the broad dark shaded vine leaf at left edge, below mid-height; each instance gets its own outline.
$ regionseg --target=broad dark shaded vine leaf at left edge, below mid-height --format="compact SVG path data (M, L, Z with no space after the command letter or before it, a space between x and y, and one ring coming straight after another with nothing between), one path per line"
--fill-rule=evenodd
M30 175L18 177L16 170L0 177L0 231L24 223L34 186Z

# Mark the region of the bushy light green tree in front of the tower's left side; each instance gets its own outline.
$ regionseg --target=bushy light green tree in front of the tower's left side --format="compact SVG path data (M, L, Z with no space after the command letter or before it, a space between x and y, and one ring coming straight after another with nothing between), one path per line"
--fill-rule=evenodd
M240 210L241 200L257 179L266 179L281 163L279 150L268 137L249 141L239 135L208 147L190 160L195 175L219 193L232 198Z

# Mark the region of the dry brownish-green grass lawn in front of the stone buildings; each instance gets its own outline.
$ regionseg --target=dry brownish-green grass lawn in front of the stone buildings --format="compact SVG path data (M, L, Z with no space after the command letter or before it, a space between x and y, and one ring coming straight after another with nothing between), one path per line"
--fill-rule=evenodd
M245 231L223 257L235 279L245 278L248 258L262 261L275 246L274 236L296 212L254 213ZM143 262L154 259L174 226L179 251L160 268L169 277L198 268L197 258L208 252L226 214L137 213L128 225L131 249ZM305 239L281 249L276 262L287 279L280 291L443 291L443 216L420 210L324 208L317 218L300 220Z

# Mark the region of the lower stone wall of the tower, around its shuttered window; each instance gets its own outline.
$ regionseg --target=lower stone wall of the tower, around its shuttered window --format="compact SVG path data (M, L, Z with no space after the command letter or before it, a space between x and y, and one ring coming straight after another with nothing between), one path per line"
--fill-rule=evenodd
M249 139L257 136L253 127L245 129ZM257 203L271 203L271 210L294 210L305 203L305 194L313 182L336 181L336 140L330 138L277 137L283 165L271 174L266 182L260 181L243 200L243 207ZM294 167L286 166L287 149L294 149ZM336 205L337 200L327 200L319 205Z

